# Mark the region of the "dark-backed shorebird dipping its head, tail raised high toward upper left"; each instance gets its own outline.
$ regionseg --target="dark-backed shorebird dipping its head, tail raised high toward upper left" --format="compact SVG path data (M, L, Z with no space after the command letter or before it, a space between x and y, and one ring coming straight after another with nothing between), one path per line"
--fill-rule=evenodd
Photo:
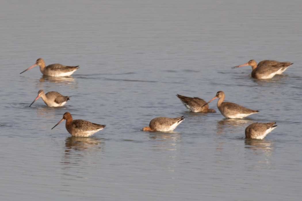
M202 105L206 104L206 102L198 97L187 97L177 94L176 95L182 103L189 109L189 111L192 112L216 112L214 109L209 109L209 105L205 105L204 107L201 107Z

